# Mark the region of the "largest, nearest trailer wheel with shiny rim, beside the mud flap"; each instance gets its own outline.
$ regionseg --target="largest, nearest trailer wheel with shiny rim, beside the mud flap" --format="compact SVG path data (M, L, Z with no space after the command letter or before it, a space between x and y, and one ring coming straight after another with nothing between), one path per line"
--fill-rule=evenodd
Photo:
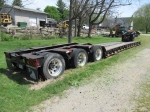
M43 62L42 71L46 79L57 78L65 70L65 61L60 54L50 53Z

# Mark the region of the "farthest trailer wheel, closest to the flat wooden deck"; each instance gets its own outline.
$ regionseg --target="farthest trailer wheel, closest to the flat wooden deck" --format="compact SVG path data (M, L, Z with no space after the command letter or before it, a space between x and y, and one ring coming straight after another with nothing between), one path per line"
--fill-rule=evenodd
M99 61L103 57L103 50L99 46L94 46L92 49L92 53L90 55L90 59L92 62Z

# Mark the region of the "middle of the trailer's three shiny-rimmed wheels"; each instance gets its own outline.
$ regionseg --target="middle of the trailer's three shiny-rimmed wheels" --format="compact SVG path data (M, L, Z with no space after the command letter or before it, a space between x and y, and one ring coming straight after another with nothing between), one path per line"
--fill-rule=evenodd
M76 49L71 57L71 66L73 68L82 67L87 63L88 56L84 49Z

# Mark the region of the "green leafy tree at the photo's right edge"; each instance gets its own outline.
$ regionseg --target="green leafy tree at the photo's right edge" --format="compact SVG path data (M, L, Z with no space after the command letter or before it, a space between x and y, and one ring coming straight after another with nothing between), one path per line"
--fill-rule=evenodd
M134 14L134 29L150 31L150 3L140 7ZM142 23L142 24L141 24Z

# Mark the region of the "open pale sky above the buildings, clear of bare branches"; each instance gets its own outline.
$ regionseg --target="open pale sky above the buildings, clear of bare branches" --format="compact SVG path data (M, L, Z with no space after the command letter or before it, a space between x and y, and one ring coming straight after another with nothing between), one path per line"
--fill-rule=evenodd
M23 0L24 1L24 0ZM26 0L28 1L28 0ZM29 0L31 1L31 0ZM25 7L27 8L31 8L31 9L36 9L36 8L40 8L42 11L44 10L44 8L46 6L56 6L56 3L58 0L32 0L33 2L31 2L31 4L25 5ZM64 2L69 3L69 0L63 0ZM146 4L146 3L150 3L150 0L132 0L135 1L134 3L132 3L132 5L130 6L122 6L118 9L116 9L118 11L117 16L118 17L131 17L133 15L133 13L142 5Z

